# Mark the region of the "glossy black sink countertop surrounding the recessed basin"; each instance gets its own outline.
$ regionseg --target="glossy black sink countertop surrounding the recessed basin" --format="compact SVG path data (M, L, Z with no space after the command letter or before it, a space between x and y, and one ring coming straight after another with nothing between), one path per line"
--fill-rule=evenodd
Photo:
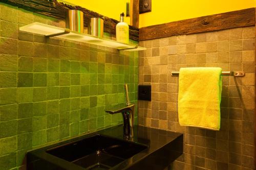
M84 170L72 162L53 156L47 151L67 144L88 138L96 134L110 136L113 138L124 140L122 137L122 125L104 129L83 136L71 138L56 144L49 145L44 148L36 149L28 152L27 169L28 170ZM136 155L125 159L121 163L110 168L113 170L121 169L164 169L183 153L183 134L175 133L160 129L135 126L134 138L130 141L143 144L147 149L137 153ZM90 145L88 146L90 147ZM73 153L70 153L73 154Z

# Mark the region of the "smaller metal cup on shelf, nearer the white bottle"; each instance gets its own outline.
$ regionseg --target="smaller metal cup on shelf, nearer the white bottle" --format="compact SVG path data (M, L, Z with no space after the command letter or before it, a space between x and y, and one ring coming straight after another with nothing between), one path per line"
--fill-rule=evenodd
M103 37L103 23L104 20L101 18L91 18L90 25L88 27L88 34L96 37Z

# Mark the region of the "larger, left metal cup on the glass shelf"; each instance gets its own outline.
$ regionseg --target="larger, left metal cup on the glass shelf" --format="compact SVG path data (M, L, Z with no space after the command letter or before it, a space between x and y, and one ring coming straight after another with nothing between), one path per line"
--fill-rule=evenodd
M70 29L70 31L83 33L83 12L68 10L66 12L66 28Z

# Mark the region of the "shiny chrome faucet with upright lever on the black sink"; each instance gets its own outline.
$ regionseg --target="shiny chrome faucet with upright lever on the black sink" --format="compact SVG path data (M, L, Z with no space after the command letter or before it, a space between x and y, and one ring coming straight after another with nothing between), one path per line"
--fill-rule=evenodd
M124 90L126 95L126 104L119 104L114 106L105 112L110 114L122 113L123 116L123 137L125 139L133 138L133 129L134 129L134 106L129 101L127 85L124 84Z

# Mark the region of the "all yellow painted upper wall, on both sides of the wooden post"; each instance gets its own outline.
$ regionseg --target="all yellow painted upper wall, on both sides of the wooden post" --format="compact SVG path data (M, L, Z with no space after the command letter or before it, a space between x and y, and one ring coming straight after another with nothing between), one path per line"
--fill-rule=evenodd
M119 20L130 0L64 0L104 16ZM59 0L63 2L63 0ZM256 7L256 0L152 0L152 12L140 14L140 28L182 19L195 18ZM130 24L130 17L124 21Z

